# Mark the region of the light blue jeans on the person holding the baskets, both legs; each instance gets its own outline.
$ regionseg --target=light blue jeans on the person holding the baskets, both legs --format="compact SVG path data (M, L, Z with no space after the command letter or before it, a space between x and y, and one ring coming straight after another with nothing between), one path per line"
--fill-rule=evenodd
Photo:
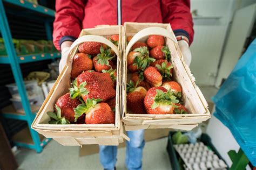
M131 139L126 141L127 169L142 169L142 154L145 145L144 130L127 131ZM114 169L117 162L117 146L99 146L99 159L104 169Z

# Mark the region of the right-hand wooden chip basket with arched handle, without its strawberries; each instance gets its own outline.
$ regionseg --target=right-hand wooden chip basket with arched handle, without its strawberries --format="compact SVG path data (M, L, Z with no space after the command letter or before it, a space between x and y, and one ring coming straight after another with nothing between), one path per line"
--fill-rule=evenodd
M183 89L183 101L185 107L190 114L173 114L173 115L149 115L149 114L129 114L126 110L126 83L128 82L130 74L127 73L127 55L132 45L140 41L146 41L147 37L156 34L164 36L166 45L171 51L171 62L174 65L174 80L176 80ZM126 45L126 36L133 36L129 44ZM160 129L172 128L180 130L191 130L198 126L198 123L206 121L211 117L207 109L207 102L201 93L200 89L194 83L193 75L189 67L183 60L177 44L177 39L171 29L170 24L158 23L125 23L123 32L123 107L122 107L122 121L125 125L125 130L138 129ZM126 48L125 48L126 47Z

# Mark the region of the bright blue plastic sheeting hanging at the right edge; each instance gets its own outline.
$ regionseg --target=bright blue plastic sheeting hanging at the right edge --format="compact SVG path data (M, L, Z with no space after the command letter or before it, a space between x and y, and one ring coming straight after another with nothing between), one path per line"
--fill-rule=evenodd
M230 129L256 166L256 39L212 100L216 105L214 115Z

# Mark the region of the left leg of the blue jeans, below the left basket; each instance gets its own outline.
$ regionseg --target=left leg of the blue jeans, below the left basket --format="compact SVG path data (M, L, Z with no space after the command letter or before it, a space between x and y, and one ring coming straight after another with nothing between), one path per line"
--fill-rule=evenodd
M99 146L99 159L104 169L114 169L117 162L117 146Z

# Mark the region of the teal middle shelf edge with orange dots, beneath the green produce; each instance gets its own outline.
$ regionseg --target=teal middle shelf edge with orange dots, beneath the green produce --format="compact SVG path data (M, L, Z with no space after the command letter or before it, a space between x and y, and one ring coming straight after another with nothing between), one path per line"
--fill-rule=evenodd
M60 58L60 53L41 53L41 54L29 54L29 55L19 55L18 61L19 63L28 63L49 59L57 59ZM10 63L8 56L0 56L0 63L8 64Z

